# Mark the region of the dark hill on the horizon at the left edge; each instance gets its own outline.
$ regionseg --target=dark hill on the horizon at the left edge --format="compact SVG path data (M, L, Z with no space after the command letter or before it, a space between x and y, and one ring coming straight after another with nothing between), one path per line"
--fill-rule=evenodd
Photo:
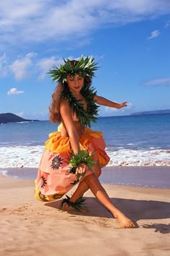
M23 119L22 117L12 113L0 114L0 124L14 123L14 122L20 122L20 121L38 121L38 120Z

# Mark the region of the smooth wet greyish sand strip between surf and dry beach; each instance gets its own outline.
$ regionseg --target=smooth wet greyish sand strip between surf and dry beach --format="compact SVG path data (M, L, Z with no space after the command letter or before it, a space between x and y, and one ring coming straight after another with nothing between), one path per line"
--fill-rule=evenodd
M0 168L0 174L13 179L34 180L37 168ZM99 177L102 184L170 189L169 166L106 166Z

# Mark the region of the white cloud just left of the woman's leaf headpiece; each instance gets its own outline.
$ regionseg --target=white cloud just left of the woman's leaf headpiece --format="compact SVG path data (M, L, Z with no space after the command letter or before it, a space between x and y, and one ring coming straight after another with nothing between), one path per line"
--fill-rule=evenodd
M40 70L40 75L38 77L39 80L43 80L47 74L47 72L53 68L53 66L58 66L59 64L63 63L63 59L59 58L56 59L55 56L50 58L40 59L37 62L36 67Z

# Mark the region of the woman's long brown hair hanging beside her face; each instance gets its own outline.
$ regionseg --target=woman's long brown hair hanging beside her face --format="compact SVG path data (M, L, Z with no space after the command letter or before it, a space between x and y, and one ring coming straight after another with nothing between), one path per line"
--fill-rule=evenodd
M81 89L82 95L83 95L84 88L87 88L90 85L91 85L91 78L84 77L84 87ZM52 94L52 101L49 106L49 111L50 111L50 121L53 121L53 123L61 122L60 103L61 103L63 90L66 87L68 87L67 82L64 82L63 84L58 84Z

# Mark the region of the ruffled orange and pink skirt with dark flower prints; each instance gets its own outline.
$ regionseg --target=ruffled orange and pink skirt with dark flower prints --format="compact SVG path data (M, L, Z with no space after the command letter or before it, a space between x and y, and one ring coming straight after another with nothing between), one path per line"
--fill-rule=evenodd
M80 148L88 150L90 154L94 153L94 161L97 161L101 168L109 162L109 156L104 150L105 142L102 132L94 132L85 128L84 134L80 138ZM68 161L70 158L69 137L61 136L61 132L50 133L49 140L45 142L45 150L42 153L35 180L35 198L37 200L57 200L77 183L76 174L69 173L71 165ZM91 173L92 171L88 169L85 176Z

